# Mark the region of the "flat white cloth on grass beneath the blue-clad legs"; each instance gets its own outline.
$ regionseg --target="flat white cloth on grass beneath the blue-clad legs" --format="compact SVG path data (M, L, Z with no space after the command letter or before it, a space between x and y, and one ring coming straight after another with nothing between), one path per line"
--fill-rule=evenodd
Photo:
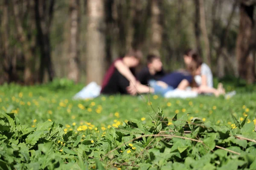
M182 99L186 99L186 98L195 98L198 96L198 93L195 91L191 91L191 90L179 90L179 89L175 89L173 91L168 91L166 92L166 94L164 94L165 98L182 98Z

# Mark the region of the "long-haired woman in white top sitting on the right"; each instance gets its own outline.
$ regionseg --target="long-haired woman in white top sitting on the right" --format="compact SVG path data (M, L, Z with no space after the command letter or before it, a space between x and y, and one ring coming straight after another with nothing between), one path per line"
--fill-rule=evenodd
M215 94L219 96L225 94L225 90L221 83L218 84L218 89L213 88L212 71L206 63L202 62L202 58L192 49L185 52L183 56L186 67L189 67L192 62L195 62L196 68L194 69L194 79L197 88L193 88L199 94Z

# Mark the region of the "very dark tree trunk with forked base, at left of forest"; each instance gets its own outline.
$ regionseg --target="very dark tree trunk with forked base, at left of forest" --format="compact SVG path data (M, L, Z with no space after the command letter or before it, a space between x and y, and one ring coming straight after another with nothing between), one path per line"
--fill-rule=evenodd
M48 2L48 1L47 1ZM55 0L49 1L49 11L46 1L35 0L35 16L36 26L38 31L38 43L40 45L41 60L39 68L39 82L42 83L44 80L45 67L49 75L49 80L52 81L55 76L51 61L51 45L50 45L50 26L53 17L53 7Z

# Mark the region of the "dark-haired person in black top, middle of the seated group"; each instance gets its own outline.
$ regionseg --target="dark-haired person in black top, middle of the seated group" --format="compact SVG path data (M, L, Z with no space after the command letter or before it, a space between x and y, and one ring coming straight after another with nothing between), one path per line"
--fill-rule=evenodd
M165 75L163 71L163 63L160 57L149 54L147 56L147 67L141 69L137 75L137 80L142 85L148 85L148 81L151 79L159 80Z

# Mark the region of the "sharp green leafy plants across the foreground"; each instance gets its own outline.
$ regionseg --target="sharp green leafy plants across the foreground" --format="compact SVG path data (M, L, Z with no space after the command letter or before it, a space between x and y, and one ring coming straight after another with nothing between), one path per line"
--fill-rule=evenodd
M162 108L152 119L153 127L132 119L118 128L109 128L105 136L96 139L73 131L64 132L62 125L50 121L39 123L35 128L20 125L13 113L2 113L0 167L34 170L104 170L115 166L127 168L127 165L132 170L256 168L256 144L249 139L249 142L241 140L241 136L255 139L253 122L239 124L240 129L220 129L199 118L187 122L187 114L178 119L176 114L172 119L174 126L168 126ZM186 125L191 127L191 133L184 132ZM229 135L223 137L222 133Z

